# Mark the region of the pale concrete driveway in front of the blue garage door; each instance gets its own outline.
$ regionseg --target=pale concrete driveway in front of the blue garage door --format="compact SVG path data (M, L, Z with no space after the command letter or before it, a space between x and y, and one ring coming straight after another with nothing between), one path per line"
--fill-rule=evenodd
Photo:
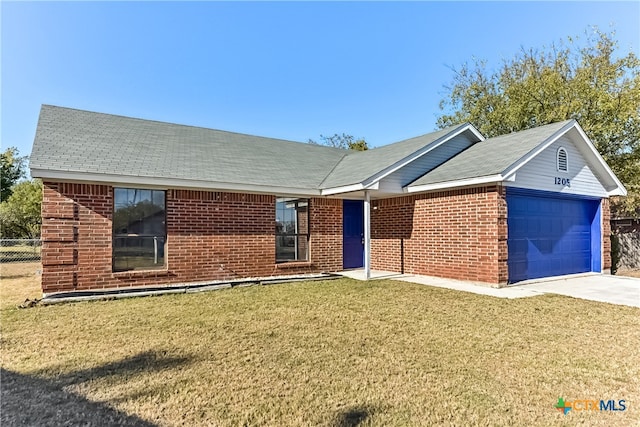
M640 307L640 279L633 277L590 274L516 284L509 288Z

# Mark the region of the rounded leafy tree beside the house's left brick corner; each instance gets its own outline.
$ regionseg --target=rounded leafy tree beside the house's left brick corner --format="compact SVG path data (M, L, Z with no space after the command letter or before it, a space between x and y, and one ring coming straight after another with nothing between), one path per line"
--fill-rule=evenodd
M7 239L40 237L42 182L22 181L12 189L11 196L0 203L0 234Z

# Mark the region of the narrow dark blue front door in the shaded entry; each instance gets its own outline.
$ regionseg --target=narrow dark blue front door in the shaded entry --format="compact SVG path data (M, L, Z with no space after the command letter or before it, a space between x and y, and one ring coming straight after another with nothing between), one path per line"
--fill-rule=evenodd
M364 265L364 202L344 200L342 204L342 266Z

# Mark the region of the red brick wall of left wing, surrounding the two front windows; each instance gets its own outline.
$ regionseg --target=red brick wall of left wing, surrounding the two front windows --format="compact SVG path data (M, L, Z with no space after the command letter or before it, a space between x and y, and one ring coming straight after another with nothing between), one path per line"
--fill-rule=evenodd
M45 182L43 292L341 269L340 200L311 200L311 259L284 264L275 264L275 196L168 190L166 209L166 268L114 273L113 188Z

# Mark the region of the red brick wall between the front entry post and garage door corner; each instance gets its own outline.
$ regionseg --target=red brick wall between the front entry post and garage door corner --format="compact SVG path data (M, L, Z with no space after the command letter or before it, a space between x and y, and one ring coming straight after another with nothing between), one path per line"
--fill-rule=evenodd
M504 283L506 217L499 186L375 200L372 268Z

